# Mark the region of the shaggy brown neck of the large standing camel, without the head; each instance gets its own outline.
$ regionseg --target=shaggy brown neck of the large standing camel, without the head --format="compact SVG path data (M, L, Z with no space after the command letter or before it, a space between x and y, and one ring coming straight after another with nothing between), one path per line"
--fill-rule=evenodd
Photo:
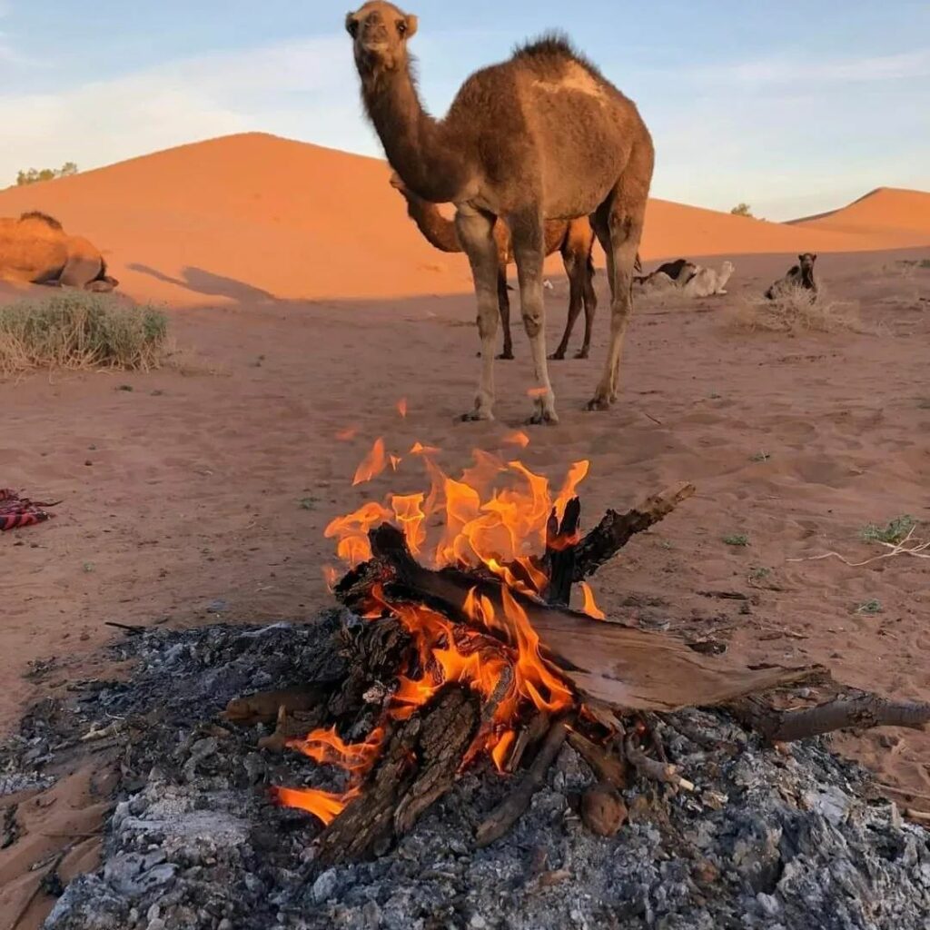
M363 75L362 98L405 186L436 204L457 201L468 181L465 159L447 144L445 126L423 111L409 69Z

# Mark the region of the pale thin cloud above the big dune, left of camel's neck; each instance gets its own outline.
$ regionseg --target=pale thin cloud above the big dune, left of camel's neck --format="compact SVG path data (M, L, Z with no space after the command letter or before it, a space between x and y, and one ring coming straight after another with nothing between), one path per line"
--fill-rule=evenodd
M23 167L74 161L87 169L252 129L303 124L299 134L322 137L312 113L334 98L357 113L355 83L339 35L168 62L55 93L0 92L0 126L16 127L0 152L0 186Z

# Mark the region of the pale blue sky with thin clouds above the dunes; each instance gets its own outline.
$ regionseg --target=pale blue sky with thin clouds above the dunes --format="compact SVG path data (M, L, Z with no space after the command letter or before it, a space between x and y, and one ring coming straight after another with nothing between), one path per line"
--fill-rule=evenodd
M348 8L0 0L0 186L20 168L89 169L252 130L381 157ZM423 102L438 116L515 43L568 33L643 113L654 196L792 219L876 187L930 190L925 0L416 0L409 11Z

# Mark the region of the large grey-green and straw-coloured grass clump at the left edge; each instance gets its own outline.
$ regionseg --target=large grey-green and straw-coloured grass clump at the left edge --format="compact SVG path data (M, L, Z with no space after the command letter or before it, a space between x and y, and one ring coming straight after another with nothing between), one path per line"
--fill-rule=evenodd
M0 307L0 375L33 368L148 371L167 352L168 322L151 305L127 307L86 291Z

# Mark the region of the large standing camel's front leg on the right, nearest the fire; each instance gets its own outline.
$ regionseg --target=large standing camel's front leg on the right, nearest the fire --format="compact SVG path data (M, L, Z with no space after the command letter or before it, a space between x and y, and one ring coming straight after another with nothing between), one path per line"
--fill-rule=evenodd
M536 385L532 390L536 411L531 423L558 423L555 394L546 364L546 312L542 298L544 259L542 214L536 210L508 218L513 241L513 258L520 277L520 312L533 352Z

